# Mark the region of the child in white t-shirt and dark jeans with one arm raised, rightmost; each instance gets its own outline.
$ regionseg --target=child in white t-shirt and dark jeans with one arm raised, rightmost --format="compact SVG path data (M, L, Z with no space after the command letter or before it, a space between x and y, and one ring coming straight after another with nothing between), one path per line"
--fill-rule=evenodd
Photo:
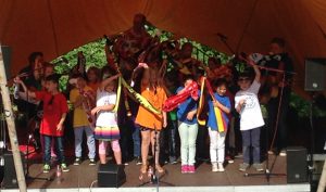
M239 166L240 171L246 171L250 166L250 146L252 146L253 167L258 171L264 170L260 159L260 137L261 127L264 126L265 123L258 100L258 92L261 87L261 72L256 65L253 65L253 69L255 77L252 82L248 74L239 75L238 86L240 90L235 97L235 107L240 114L240 130L242 135L243 163Z

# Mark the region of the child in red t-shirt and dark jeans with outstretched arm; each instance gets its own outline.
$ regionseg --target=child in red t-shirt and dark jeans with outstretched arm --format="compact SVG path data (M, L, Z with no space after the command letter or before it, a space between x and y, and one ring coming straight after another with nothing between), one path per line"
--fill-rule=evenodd
M51 159L51 140L55 141L58 161L61 165L62 171L70 171L65 164L64 149L62 142L63 136L63 123L68 112L68 106L65 97L59 91L58 82L59 78L57 75L50 75L46 78L46 91L29 91L27 90L24 82L16 77L15 81L21 84L24 91L28 91L28 97L35 98L43 102L43 117L40 124L40 133L45 138L43 149L43 172L49 172L50 159Z

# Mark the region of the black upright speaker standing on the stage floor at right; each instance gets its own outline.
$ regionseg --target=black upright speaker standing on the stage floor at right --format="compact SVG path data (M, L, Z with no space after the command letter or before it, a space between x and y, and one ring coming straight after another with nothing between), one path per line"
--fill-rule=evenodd
M287 181L288 183L308 181L308 163L305 148L287 148Z

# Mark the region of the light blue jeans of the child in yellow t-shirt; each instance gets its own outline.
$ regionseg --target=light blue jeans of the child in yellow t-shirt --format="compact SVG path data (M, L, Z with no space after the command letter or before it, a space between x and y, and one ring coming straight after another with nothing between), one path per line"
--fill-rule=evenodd
M89 126L74 127L75 155L76 155L76 157L82 157L82 151L83 151L82 143L83 143L84 131L87 137L88 158L95 158L96 143L95 143L95 138L93 138L93 130Z

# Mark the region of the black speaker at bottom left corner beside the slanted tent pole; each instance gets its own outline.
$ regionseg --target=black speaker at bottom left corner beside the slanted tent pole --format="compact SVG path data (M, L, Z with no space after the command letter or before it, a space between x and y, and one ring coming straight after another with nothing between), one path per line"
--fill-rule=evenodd
M12 152L5 152L3 158L4 158L3 187L5 189L17 189L18 181L17 181L16 169L15 169ZM23 155L22 155L22 161L23 161L23 166L25 168Z

